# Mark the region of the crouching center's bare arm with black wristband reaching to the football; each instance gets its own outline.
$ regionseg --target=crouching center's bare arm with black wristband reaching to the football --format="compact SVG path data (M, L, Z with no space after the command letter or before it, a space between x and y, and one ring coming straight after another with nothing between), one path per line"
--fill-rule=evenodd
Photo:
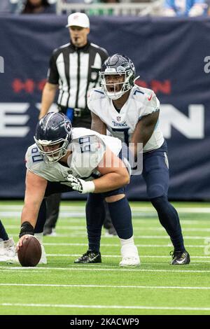
M33 234L41 202L45 195L47 181L27 170L25 203L21 215L20 240L17 248L22 246L25 235Z

